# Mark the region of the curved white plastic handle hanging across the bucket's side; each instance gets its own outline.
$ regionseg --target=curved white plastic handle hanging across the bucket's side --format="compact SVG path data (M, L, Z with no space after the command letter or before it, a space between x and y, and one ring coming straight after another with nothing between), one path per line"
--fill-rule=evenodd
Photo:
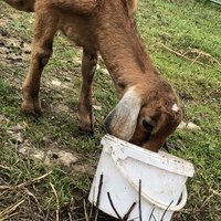
M137 185L129 178L127 171L124 169L124 167L120 165L119 158L117 158L116 154L115 154L115 149L114 147L112 147L112 159L114 160L117 169L122 172L122 175L129 181L129 183L131 185L131 187L138 192L139 188L137 187ZM179 211L180 209L182 209L187 202L187 187L185 185L183 190L182 190L182 198L179 202L179 204L173 206L173 207L169 207L166 204L162 204L161 202L158 202L156 200L154 200L152 198L148 197L145 192L141 193L143 198L146 201L149 201L151 204L157 206L158 208L166 210L166 211Z

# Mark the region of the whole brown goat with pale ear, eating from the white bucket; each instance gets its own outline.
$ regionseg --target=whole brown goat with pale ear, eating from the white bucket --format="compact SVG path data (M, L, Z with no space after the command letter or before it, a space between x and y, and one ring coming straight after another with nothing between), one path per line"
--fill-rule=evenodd
M35 12L31 63L22 86L24 113L41 114L41 74L52 55L54 34L61 30L83 48L80 127L94 129L92 82L99 52L119 99L105 120L107 133L149 150L160 149L181 122L182 108L141 44L133 19L137 0L3 1Z

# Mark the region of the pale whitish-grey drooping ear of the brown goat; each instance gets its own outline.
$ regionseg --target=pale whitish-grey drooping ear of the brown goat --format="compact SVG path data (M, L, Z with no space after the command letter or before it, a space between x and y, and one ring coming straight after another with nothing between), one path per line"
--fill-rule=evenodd
M129 141L137 126L140 106L139 95L134 88L128 90L105 119L107 133Z

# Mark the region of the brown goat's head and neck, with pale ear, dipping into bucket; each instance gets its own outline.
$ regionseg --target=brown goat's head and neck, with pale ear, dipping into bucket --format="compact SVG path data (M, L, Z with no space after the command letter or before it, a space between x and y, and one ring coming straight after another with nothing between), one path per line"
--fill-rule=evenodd
M118 138L158 151L181 122L182 108L171 85L156 72L122 2L105 1L96 29L98 50L119 98L105 127Z

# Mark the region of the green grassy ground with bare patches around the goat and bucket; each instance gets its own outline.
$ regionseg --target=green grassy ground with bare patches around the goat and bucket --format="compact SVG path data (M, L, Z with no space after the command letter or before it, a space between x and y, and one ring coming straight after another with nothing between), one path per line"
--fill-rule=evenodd
M187 182L188 202L175 213L176 221L221 220L220 12L220 6L194 0L140 0L136 12L144 44L179 94L185 120L201 128L178 129L169 138L171 152L191 161L196 170ZM60 220L84 220L105 134L103 122L117 102L110 78L102 70L96 73L95 137L90 137L77 128L81 67L74 61L81 59L81 50L72 50L72 43L57 34L42 77L43 116L23 116L20 87L30 60L33 17L0 2L0 220L55 220L57 211ZM103 67L102 60L99 64ZM62 86L52 85L52 80ZM77 162L45 166L22 155L23 147L63 149L77 156ZM114 220L102 213L98 219Z

